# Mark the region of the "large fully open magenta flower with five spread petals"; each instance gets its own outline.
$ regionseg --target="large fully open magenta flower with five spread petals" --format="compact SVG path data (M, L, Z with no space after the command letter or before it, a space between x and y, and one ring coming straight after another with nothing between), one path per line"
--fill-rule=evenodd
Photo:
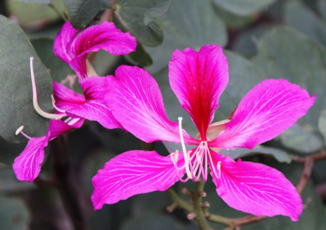
M215 45L199 52L176 50L169 63L170 85L198 128L198 140L182 129L182 118L179 124L167 118L159 87L145 70L121 66L115 74L106 97L122 126L146 142L181 143L183 151L167 157L155 151L129 151L108 161L93 178L96 210L136 194L165 191L177 181L207 180L210 168L216 192L236 210L298 220L301 198L282 173L264 164L234 161L210 148L251 149L271 140L305 115L315 96L284 79L264 80L244 96L230 120L218 125L220 133L210 139L206 133L228 83L227 58ZM197 147L187 151L185 144Z

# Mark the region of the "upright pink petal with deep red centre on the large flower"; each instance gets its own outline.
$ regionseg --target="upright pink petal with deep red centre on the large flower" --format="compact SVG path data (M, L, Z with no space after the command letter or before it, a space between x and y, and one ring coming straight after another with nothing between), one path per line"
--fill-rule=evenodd
M228 62L221 46L176 50L169 63L170 85L181 106L191 116L202 139L219 107L219 98L229 81Z

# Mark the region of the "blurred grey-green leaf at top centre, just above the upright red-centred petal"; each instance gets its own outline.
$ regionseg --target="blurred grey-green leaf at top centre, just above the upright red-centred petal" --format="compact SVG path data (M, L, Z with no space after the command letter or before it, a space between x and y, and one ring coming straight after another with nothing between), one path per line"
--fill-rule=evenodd
M167 66L175 49L227 43L225 25L209 1L175 0L156 22L164 31L164 41L159 47L146 48L153 58L153 65L148 68L153 74Z

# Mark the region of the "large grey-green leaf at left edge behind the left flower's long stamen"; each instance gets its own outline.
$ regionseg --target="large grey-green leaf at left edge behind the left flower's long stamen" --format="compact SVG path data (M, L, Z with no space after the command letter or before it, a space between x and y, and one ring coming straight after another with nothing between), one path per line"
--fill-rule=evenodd
M26 142L15 136L20 126L30 136L42 136L48 131L49 120L39 116L33 108L30 57L34 57L34 72L38 102L42 109L52 109L51 77L38 58L24 32L4 16L0 16L0 136L12 143Z

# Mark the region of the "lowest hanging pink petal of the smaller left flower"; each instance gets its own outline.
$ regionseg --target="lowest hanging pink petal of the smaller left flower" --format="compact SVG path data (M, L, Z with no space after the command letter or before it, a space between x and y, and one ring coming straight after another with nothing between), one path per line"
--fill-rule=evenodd
M41 171L44 149L48 146L49 135L30 139L25 150L16 157L12 167L18 180L30 183Z

